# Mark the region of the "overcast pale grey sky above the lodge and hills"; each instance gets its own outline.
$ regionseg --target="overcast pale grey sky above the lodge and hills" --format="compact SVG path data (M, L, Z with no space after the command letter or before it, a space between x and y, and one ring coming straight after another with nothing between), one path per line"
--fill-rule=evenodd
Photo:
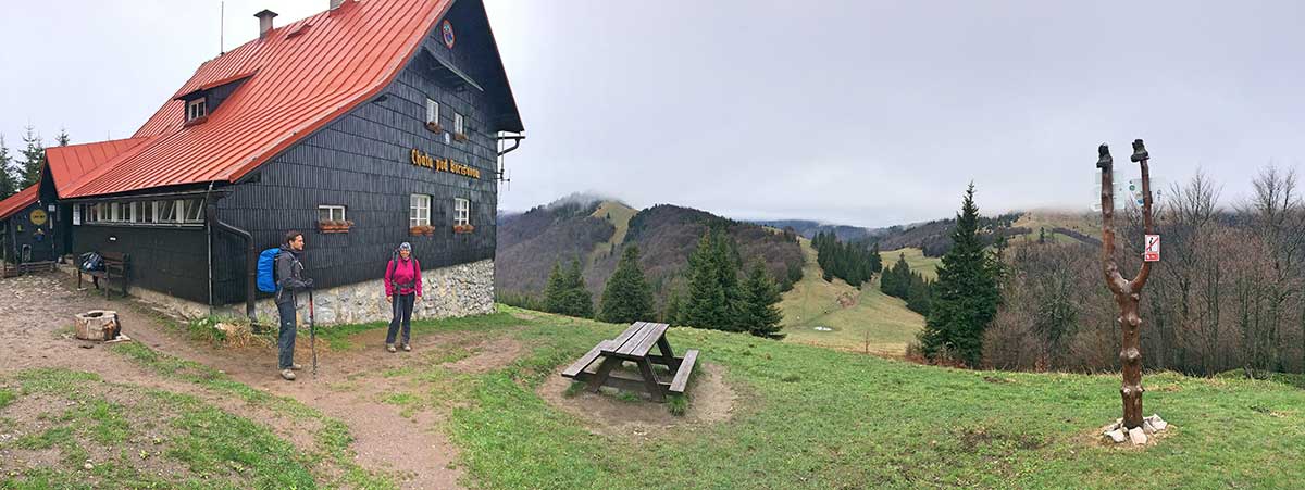
M328 0L228 0L226 47ZM1305 160L1305 3L487 0L529 138L500 207L572 192L887 225L1086 210L1096 145L1233 202ZM7 3L0 134L128 137L217 56L218 0Z

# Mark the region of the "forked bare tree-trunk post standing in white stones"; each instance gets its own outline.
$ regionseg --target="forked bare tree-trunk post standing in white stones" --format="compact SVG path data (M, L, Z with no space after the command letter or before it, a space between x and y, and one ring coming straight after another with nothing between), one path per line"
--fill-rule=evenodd
M1114 293L1114 301L1120 305L1120 330L1124 332L1124 345L1120 349L1124 386L1120 387L1120 395L1124 397L1124 427L1128 430L1142 426L1142 351L1138 341L1142 317L1138 315L1138 301L1142 298L1142 287L1151 276L1151 262L1142 262L1142 270L1133 280L1120 275L1120 267L1114 263L1114 160L1111 158L1111 149L1104 143L1098 152L1100 158L1096 160L1096 167L1101 169L1101 272L1105 275L1107 287ZM1142 219L1146 233L1151 235L1148 158L1142 139L1134 139L1131 160L1142 167Z

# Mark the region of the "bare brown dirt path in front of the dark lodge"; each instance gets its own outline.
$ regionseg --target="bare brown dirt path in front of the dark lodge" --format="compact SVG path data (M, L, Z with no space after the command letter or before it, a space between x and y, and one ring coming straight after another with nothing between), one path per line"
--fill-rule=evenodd
M405 489L455 489L461 472L454 467L455 447L438 431L442 414L431 411L410 418L401 416L399 408L380 401L397 390L386 379L368 378L352 391L333 391L333 383L348 382L350 374L395 369L419 354L418 352L386 354L380 349L345 353L320 353L318 373L307 370L296 382L284 382L277 374L275 351L213 349L181 339L161 322L142 314L133 305L104 300L87 292L74 291L76 281L61 274L27 275L0 280L0 373L31 368L67 368L91 371L106 379L155 387L200 396L223 409L252 416L256 421L281 429L283 421L275 414L251 413L247 405L235 400L222 400L194 384L175 382L149 373L108 353L102 345L84 349L76 339L59 335L72 326L72 315L91 309L112 309L119 313L124 332L155 351L196 361L224 371L235 381L278 396L290 396L348 425L354 435L351 448L358 463L371 470L384 470L402 476ZM308 336L300 343L307 344ZM432 339L433 340L433 339ZM305 356L296 357L303 365ZM377 377L378 378L378 377ZM311 429L308 429L311 430ZM278 430L296 444L312 440L312 434Z

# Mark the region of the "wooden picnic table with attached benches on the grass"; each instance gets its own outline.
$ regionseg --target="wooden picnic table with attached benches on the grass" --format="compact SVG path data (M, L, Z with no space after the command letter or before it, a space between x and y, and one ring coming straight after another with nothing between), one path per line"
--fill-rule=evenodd
M668 394L683 395L684 387L689 383L689 374L697 364L698 351L689 349L684 357L675 357L671 343L666 340L667 327L666 323L636 322L616 339L594 345L589 353L562 370L562 377L585 382L594 392L604 386L643 391L652 397L652 401L666 401ZM658 347L659 354L649 353L652 345ZM595 370L590 370L590 365L599 357L603 361ZM639 378L615 371L625 361L639 366ZM671 370L672 379L664 382L658 378L652 369L654 364Z

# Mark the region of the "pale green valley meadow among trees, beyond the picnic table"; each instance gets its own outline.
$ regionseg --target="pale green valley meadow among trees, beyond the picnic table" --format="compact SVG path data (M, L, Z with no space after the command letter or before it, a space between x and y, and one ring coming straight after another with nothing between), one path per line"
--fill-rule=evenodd
M868 343L870 352L904 353L906 344L924 328L924 318L908 310L906 301L883 295L877 285L865 284L859 291L840 279L825 281L816 250L806 240L801 240L801 246L806 254L803 280L793 284L779 304L784 313L784 341L857 352L865 351ZM839 297L851 298L855 305L844 308ZM833 331L817 331L816 327Z

